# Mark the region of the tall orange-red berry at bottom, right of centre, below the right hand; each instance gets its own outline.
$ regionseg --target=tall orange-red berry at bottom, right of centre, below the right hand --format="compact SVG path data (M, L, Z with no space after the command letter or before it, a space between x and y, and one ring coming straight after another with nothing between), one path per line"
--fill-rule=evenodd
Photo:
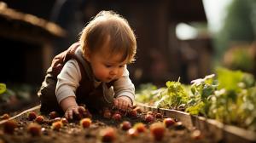
M165 135L165 125L163 123L153 123L150 125L150 133L154 136L154 140L162 140Z

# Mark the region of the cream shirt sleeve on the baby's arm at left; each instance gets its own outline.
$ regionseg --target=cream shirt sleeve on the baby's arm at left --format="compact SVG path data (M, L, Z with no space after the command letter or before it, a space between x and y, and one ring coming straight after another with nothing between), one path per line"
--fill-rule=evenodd
M57 77L55 94L59 103L67 97L76 97L75 91L81 78L77 60L68 60Z

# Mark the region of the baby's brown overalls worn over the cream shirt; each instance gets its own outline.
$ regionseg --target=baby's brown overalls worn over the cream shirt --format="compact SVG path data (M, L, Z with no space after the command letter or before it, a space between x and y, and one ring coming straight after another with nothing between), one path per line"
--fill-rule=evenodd
M57 76L61 72L62 67L67 60L77 60L81 72L82 79L79 82L79 88L76 90L76 101L78 104L85 104L90 112L96 112L103 107L113 106L113 96L103 94L103 86L110 88L112 83L101 83L97 88L94 87L94 79L91 76L90 64L75 54L79 48L79 43L73 43L66 51L55 56L52 64L47 70L41 88L38 91L38 96L41 102L40 112L61 112L61 106L57 102L55 95L55 88L57 83ZM84 61L82 61L83 59Z

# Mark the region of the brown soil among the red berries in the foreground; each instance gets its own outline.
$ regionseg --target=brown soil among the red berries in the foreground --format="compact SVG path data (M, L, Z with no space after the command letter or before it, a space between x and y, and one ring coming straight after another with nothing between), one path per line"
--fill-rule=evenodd
M39 112L36 112L39 114ZM91 125L89 128L84 129L79 125L79 120L70 121L65 124L60 130L51 129L51 123L41 123L42 133L40 135L32 135L27 132L27 126L29 121L27 114L23 114L17 117L15 120L18 123L18 127L13 134L6 134L3 131L3 124L0 126L0 143L96 143L102 142L101 131L108 127L113 127L116 131L116 137L112 142L129 142L129 143L141 143L141 142L170 142L170 143L214 143L220 142L213 140L214 136L207 132L201 132L200 137L193 137L195 129L187 129L184 126L172 126L166 128L165 135L162 140L156 141L152 134L150 134L149 126L151 123L145 123L144 117L146 113L140 113L137 117L124 116L120 121L115 121L112 118L105 118L100 114L93 114L91 118ZM52 121L49 116L44 116L45 120ZM163 117L165 118L165 117ZM162 122L163 118L157 118L154 122ZM136 123L144 123L147 127L146 132L138 134L136 137L132 137L127 134L127 131L120 129L120 123L123 121L130 121L132 125Z

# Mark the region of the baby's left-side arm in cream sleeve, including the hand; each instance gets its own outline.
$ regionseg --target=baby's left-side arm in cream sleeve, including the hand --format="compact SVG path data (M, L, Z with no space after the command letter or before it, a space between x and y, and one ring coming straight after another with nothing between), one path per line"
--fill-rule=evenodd
M68 60L58 76L55 91L57 100L68 119L73 119L73 113L79 114L79 110L85 111L84 107L78 106L75 96L80 80L81 73L78 62Z

